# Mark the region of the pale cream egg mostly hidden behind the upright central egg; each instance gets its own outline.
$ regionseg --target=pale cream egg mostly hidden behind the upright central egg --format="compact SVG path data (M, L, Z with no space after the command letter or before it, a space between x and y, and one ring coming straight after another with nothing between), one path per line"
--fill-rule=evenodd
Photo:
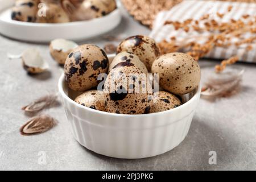
M141 71L145 74L147 74L147 68L146 66L142 63L141 60L139 60L139 57L134 55L131 52L120 52L118 55L116 55L112 61L112 63L109 66L109 71L118 63L121 62L129 62L133 63L135 67L141 69Z

